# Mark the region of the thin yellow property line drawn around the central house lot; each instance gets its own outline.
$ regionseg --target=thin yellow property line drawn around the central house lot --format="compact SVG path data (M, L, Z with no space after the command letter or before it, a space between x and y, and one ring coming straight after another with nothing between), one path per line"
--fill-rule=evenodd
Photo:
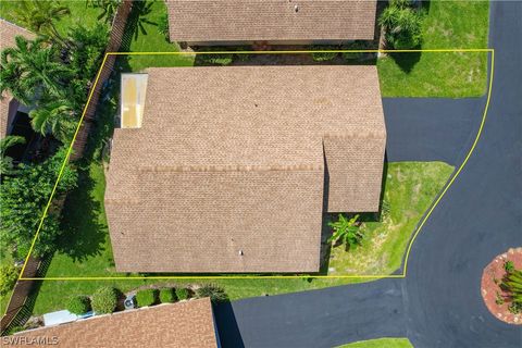
M435 200L435 202L432 204L431 209L426 212L424 217L422 219L421 223L418 225L418 228L413 233L410 243L408 245L407 251L406 251L406 257L405 257L405 265L402 269L401 274L383 274L383 275L311 275L311 274L306 274L306 275L210 275L210 276L184 276L184 275L152 275L152 276L85 276L85 277L74 277L74 276L63 276L63 277L24 277L24 271L25 266L27 264L27 261L33 252L33 249L35 247L36 240L38 239L39 233L41 231L41 226L44 225L44 220L47 216L47 213L49 211L49 207L51 206L52 198L54 197L58 183L60 182L63 171L65 169L66 163L69 162L69 158L71 156L72 149L73 149L73 144L76 140L76 136L78 135L80 125L84 121L84 116L87 112L87 107L90 103L90 100L92 98L92 94L96 89L96 86L98 84L98 79L100 77L101 71L105 64L107 58L109 55L192 55L192 54L229 54L229 53L237 53L237 54L298 54L298 53L319 53L319 52L353 52L353 53L402 53L402 52L489 52L490 53L490 76L489 76L489 85L488 85L488 90L487 90L487 99L486 99L486 105L484 108L484 113L482 116L482 122L481 126L478 128L478 132L475 136L475 140L473 141L473 145L471 146L468 154L465 156L462 164L459 166L459 169L453 173L451 178L448 181L446 186L444 187L443 191L438 196L438 198ZM484 124L486 121L486 115L487 115L487 110L489 108L489 100L492 97L492 87L493 87L493 76L494 76L494 69L495 69L495 50L490 48L486 49L426 49L426 50L310 50L310 51L207 51L207 52L107 52L103 57L103 61L101 63L100 69L98 70L98 74L96 75L95 84L92 85L92 88L90 89L89 97L87 99L87 103L84 107L84 111L82 112L82 116L79 119L78 125L76 126L76 132L74 133L73 140L71 141L71 145L67 149L67 153L65 156L65 159L62 163L62 166L60 167L60 172L57 178L57 182L54 183L54 187L52 188L51 196L49 197L49 200L47 202L47 206L44 210L44 213L40 219L40 223L38 225L38 229L36 231L35 237L33 238L33 243L29 248L29 252L27 257L25 258L24 265L22 266L22 272L18 275L18 281L126 281L126 279L248 279L248 278L268 278L268 279L282 279L282 278L365 278L365 279L380 279L380 278L403 278L407 275L408 271L408 259L410 256L411 247L419 235L419 233L422 231L422 227L426 223L427 219L432 214L432 212L435 210L437 204L440 202L443 197L446 195L448 191L449 187L453 184L456 178L459 176L465 164L468 163L468 160L470 159L471 154L475 150L476 144L478 142L478 139L481 138L482 130L484 128Z

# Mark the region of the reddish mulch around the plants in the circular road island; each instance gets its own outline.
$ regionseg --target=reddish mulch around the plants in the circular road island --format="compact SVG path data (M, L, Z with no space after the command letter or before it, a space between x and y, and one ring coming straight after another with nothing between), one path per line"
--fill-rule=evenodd
M522 325L522 314L513 314L508 310L510 304L509 300L506 300L502 304L498 304L497 293L506 298L508 294L502 291L498 286L502 277L506 275L504 264L506 261L511 261L514 268L522 269L522 248L509 249L507 252L496 257L482 273L481 293L487 309L495 318L502 322L515 325ZM497 283L495 283L497 282Z

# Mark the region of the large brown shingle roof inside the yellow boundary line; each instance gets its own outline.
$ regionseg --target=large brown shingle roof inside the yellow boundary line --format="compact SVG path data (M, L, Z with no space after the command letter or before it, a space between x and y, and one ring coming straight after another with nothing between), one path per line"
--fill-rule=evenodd
M375 66L148 73L142 126L114 130L107 176L117 271L319 271L323 151L328 210L378 210Z

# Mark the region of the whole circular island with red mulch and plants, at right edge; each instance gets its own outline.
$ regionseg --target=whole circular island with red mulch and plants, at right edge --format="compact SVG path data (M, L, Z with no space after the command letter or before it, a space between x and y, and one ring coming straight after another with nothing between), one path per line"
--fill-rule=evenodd
M519 290L515 290L515 289ZM522 324L522 248L497 256L482 273L481 293L495 318L509 324Z

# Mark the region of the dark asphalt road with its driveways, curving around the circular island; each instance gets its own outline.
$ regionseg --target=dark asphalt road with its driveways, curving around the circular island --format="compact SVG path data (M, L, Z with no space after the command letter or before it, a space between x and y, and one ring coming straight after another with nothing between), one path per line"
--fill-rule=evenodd
M522 347L522 327L497 321L480 294L483 268L522 245L522 2L493 1L490 11L495 79L487 121L465 169L417 238L406 279L217 307L224 347L333 347L405 336L415 348ZM424 101L384 100L388 160L458 163L472 140L464 126L477 126L473 113L482 116L484 100ZM421 119L421 111L460 119L448 127ZM407 137L419 144L409 147Z

